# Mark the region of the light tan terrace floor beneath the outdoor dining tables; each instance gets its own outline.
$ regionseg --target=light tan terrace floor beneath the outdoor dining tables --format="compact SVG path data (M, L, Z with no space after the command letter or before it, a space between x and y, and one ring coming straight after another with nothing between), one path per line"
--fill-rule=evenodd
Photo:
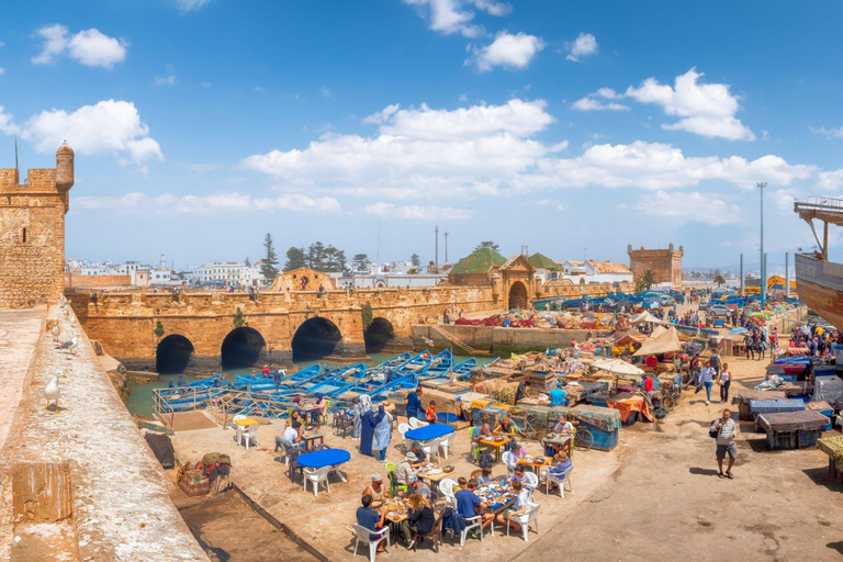
M404 422L405 418L402 417L401 420ZM323 488L318 496L314 497L310 488L305 493L301 483L290 481L283 462L272 452L274 436L280 432L280 427L281 424L278 422L261 425L258 430L260 447L252 447L249 451L234 442L234 430L231 428L176 431L172 442L177 457L182 461L196 460L210 451L228 453L233 464L231 480L244 494L328 560L349 559L353 550L350 526L355 522L355 512L360 506L361 492L371 482L372 474L379 473L385 476L383 464L356 451L357 442L350 437L341 438L329 432L326 436L326 442L329 446L352 451L351 461L341 467L348 482L331 477L330 495ZM397 440L400 436L396 431L386 457L395 463L402 457L397 449ZM458 431L454 452L447 461L445 459L441 461L442 465L454 467L452 475L454 480L459 476L468 477L476 469L476 465L470 464L467 460L468 443L468 431L464 429ZM538 442L529 442L526 446L533 454L540 452L541 446ZM559 493L547 496L541 488L533 496L535 501L542 504L539 525L542 533L548 532L552 526L561 524L574 512L580 502L598 492L603 482L618 469L615 452L577 451L574 458L576 469L572 475L573 493L566 493L562 498ZM493 471L493 475L505 473L506 468L503 464L497 464ZM532 532L530 540L535 540L538 536ZM379 560L381 558L463 560L465 557L508 560L521 552L524 547L522 539L502 536L498 531L494 538L486 537L483 542L469 540L464 547L460 547L459 537L456 540L446 539L439 554L432 551L429 541L416 553L407 551L404 546L393 546L391 552L379 555ZM361 548L359 557L362 555Z

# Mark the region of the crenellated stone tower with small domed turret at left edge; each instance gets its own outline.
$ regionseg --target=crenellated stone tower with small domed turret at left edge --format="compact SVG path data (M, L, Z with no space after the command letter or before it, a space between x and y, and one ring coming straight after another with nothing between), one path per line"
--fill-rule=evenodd
M0 307L55 301L64 289L65 213L74 151L61 145L55 169L0 169Z

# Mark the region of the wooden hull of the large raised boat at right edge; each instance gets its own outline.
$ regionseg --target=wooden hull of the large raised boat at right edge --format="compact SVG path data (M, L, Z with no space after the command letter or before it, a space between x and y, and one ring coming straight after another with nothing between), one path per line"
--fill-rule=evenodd
M796 255L799 299L836 328L843 328L843 265Z

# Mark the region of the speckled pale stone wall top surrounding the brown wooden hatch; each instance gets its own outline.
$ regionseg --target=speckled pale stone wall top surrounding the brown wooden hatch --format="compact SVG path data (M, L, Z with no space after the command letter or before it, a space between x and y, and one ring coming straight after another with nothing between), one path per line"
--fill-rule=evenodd
M52 307L47 317L61 322L59 339L69 340L74 328L60 308ZM44 389L58 371L66 378L59 379L59 411L53 413L45 411ZM0 467L67 464L82 560L207 560L172 505L171 485L83 333L72 353L56 349L49 334L38 339L9 435ZM0 492L10 498L8 479L4 484ZM50 488L45 494L61 492ZM11 542L10 535L5 538Z

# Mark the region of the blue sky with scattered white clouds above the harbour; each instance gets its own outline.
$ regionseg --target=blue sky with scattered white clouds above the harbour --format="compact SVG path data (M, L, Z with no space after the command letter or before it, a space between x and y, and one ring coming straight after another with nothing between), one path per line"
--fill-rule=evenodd
M177 267L314 240L383 260L688 266L808 248L843 187L835 2L15 2L0 165L77 151L67 255ZM3 148L5 147L5 148ZM5 156L2 156L5 154ZM835 233L835 241L842 238ZM441 247L441 244L440 244ZM838 251L838 254L840 254ZM836 258L832 251L832 257ZM443 252L440 254L440 259Z

